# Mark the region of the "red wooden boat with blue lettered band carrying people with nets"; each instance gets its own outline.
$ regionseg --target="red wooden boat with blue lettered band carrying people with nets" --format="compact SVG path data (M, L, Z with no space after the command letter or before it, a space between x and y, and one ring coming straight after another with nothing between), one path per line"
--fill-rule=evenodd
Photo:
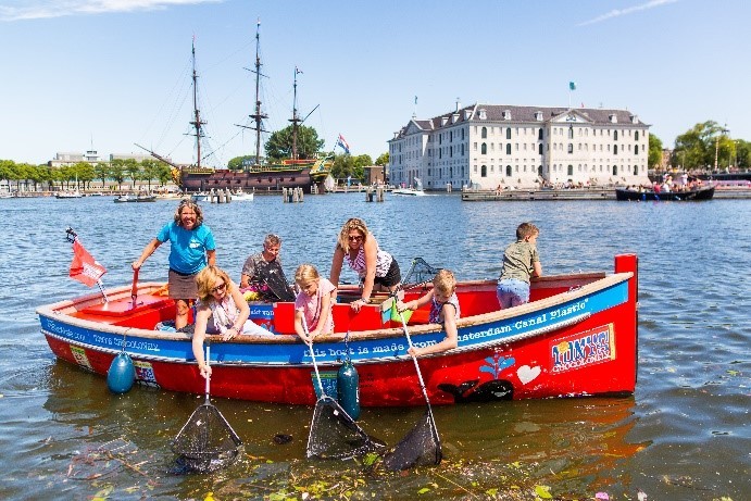
M493 400L630 394L637 370L637 256L615 258L615 273L577 273L534 279L530 302L498 309L496 280L458 285L462 318L458 348L420 359L434 404ZM405 300L427 286L406 291ZM164 284L130 286L41 306L41 331L54 354L105 375L125 350L136 379L171 391L202 393L204 380L190 336L154 330L172 320L174 302ZM360 375L361 404L425 403L401 323L379 304L352 313L356 290L342 290L334 305L336 331L316 338L315 359L327 394L336 394L336 371L349 355ZM380 298L384 300L386 298ZM376 299L377 301L377 299ZM293 335L293 304L251 304L251 317L275 336L211 340L212 396L312 405L315 372L310 351ZM415 345L439 342L445 333L416 311L409 331ZM347 343L346 334L349 333ZM331 392L331 390L334 390Z

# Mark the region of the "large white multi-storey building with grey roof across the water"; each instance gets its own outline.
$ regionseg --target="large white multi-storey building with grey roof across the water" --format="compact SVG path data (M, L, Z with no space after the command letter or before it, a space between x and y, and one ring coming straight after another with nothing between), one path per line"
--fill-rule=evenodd
M389 143L389 180L425 189L649 184L649 125L628 110L473 104L415 116Z

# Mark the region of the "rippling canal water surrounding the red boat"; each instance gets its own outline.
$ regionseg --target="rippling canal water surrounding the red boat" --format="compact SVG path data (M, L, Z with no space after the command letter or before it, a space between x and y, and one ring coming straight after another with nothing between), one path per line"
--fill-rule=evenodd
M217 263L239 279L267 233L283 239L288 277L303 262L328 274L341 224L365 220L403 271L415 256L460 279L499 274L518 223L541 229L546 274L612 271L640 259L639 368L631 398L434 408L446 459L385 474L305 459L312 409L213 403L246 442L243 460L211 475L179 475L168 442L202 397L107 381L51 354L35 309L88 293L67 277L65 228L128 284L130 262L176 201L111 197L0 200L1 499L641 499L735 501L751 492L751 202L462 202L437 195L366 203L363 193L205 204ZM164 280L167 246L141 280ZM354 280L354 275L345 275ZM361 426L393 444L423 409L365 409ZM277 444L274 436L290 435Z

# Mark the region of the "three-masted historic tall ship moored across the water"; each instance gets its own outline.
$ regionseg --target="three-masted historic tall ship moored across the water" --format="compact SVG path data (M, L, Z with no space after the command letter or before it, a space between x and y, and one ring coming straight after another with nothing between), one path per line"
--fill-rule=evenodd
M241 190L252 192L276 191L284 188L302 188L304 191L311 192L314 186L317 192L324 192L325 190L324 183L331 171L331 166L334 165L333 156L301 159L298 154L298 130L300 124L304 122L306 117L300 118L298 114L297 75L299 72L297 68L295 70L292 117L289 120L289 122L292 124L291 155L289 159L284 159L276 162L262 162L261 160L261 134L266 131L263 127L263 120L267 118L267 115L263 113L261 109L260 99L260 27L261 23L259 22L255 29L255 70L253 72L255 73L255 109L254 113L249 115L250 118L253 120L254 125L241 126L255 131L254 161L246 162L242 168L239 171L231 171L229 168L214 168L211 166L201 165L201 161L203 159L201 155L201 139L205 135L203 130L205 122L201 120L201 113L198 108L198 73L196 71L195 42L191 47L193 116L190 125L193 129L191 135L196 138L196 164L178 165L148 148L136 145L137 147L148 151L158 160L167 163L172 167L173 180L184 192L205 192L212 189L228 189L230 191Z

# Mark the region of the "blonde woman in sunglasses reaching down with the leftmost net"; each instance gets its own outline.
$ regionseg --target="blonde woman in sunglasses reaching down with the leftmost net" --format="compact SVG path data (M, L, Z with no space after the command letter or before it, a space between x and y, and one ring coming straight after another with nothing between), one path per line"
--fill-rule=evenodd
M211 264L204 267L196 275L196 287L199 302L192 349L201 376L211 377L211 366L205 363L203 354L206 334L221 335L223 341L230 341L239 335L274 336L248 318L248 302L224 270Z

